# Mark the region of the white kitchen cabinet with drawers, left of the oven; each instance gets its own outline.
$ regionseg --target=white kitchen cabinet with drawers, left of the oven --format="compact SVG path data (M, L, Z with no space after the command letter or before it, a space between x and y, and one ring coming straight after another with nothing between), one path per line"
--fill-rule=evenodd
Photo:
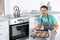
M9 23L8 23L8 20L0 21L0 40L9 40Z

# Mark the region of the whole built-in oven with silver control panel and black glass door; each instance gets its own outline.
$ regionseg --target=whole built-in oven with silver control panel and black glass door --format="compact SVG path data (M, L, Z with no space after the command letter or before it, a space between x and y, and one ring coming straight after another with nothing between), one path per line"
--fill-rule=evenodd
M27 18L10 20L10 40L29 37L29 21Z

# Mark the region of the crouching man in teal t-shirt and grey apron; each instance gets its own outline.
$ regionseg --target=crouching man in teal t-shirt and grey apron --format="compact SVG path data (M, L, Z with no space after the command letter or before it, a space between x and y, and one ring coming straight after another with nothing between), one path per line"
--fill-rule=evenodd
M54 16L48 14L47 6L45 5L41 6L40 10L41 10L42 15L38 17L38 26L34 28L32 32L34 32L34 30L40 29L43 25L45 31L50 30L50 34L52 35L50 37L50 40L54 40L56 31L58 29L58 23L56 19L54 18Z

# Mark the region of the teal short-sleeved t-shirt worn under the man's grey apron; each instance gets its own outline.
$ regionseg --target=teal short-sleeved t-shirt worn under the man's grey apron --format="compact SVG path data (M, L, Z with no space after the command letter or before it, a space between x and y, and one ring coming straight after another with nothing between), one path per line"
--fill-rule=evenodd
M48 14L48 18L49 18L50 24L52 24L52 25L57 22L55 17L53 15L51 15L51 14ZM42 15L40 15L40 16L38 16L37 22L38 22L38 24L41 24L42 23L41 19L43 20L43 22L47 22L48 18L47 18L47 16L46 17L42 17Z

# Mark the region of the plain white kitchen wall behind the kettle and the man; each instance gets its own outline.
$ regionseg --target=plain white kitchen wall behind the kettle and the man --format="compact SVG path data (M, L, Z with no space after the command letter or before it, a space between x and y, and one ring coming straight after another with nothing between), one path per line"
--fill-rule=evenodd
M60 11L60 0L4 0L5 14L13 14L14 6L19 6L21 11L40 10L41 5L47 5L50 2L52 11Z

